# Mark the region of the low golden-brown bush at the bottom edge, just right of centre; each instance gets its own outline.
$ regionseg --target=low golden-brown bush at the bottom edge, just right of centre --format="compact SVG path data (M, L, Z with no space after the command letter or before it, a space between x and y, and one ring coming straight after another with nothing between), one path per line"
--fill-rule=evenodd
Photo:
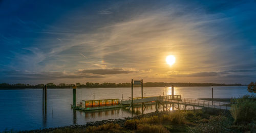
M137 132L139 133L169 133L169 131L162 125L149 125L149 124L139 124Z

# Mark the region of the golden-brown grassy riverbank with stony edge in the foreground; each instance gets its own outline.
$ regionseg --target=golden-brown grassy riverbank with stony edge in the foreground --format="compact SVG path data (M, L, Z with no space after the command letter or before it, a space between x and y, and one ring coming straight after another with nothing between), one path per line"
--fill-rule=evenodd
M69 125L45 129L39 128L16 132L136 132L139 126L144 127L142 130L147 130L147 132L151 132L151 129L149 128L152 128L153 130L159 128L157 130L165 130L166 133L188 132L191 129L198 128L205 122L208 122L212 117L214 117L214 119L216 117L217 119L219 119L219 117L226 119L228 116L230 116L229 111L206 108L195 111L161 111L136 115L134 117L87 122L83 125ZM153 132L158 131L154 130Z

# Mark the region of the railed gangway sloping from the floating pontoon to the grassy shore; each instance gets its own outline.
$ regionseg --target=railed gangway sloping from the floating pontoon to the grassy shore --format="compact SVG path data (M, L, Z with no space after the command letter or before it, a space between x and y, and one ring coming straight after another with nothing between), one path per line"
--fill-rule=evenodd
M158 100L160 101L168 101L168 102L175 102L187 105L195 105L198 107L208 107L214 109L224 109L230 110L230 107L227 107L229 102L221 102L221 101L208 101L208 100L200 100L200 99L193 99L193 98L166 98L166 96L159 96Z

